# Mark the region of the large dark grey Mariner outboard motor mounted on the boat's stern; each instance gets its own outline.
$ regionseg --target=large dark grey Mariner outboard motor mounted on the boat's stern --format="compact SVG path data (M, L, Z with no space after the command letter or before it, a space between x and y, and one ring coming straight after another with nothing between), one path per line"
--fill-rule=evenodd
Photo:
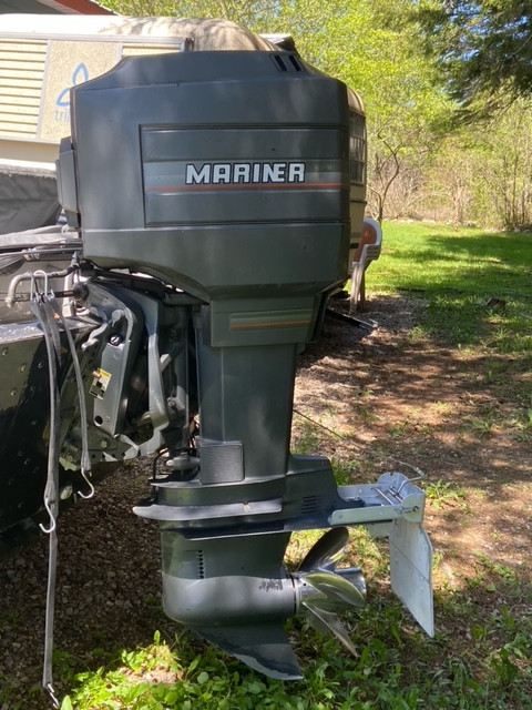
M433 629L422 491L401 474L338 488L326 458L289 450L296 356L360 233L364 126L295 52L142 57L72 90L59 160L78 304L101 322L83 346L92 440L165 452L135 513L161 529L166 613L280 679L301 676L283 628L298 611L352 649L351 525L390 537L392 585ZM319 528L289 574L290 534Z

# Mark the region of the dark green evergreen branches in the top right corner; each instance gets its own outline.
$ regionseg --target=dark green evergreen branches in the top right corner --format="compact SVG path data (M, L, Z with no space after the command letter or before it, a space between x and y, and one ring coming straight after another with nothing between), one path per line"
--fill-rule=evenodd
M462 116L532 93L530 0L421 0L415 13Z

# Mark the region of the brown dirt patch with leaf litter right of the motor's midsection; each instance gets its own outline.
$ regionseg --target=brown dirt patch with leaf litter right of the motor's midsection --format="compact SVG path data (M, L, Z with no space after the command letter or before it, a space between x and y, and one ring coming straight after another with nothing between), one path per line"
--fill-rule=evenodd
M530 580L532 430L519 422L523 402L515 382L489 382L488 354L419 334L424 307L374 296L360 314L377 324L370 333L326 318L321 339L301 356L296 442L311 432L352 480L421 470L426 527L452 585L484 557ZM530 383L530 374L520 377Z

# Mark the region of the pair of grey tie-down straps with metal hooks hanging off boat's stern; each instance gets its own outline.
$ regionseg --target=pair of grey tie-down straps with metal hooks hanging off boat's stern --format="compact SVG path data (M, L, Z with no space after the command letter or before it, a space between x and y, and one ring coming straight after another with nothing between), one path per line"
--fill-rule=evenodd
M78 394L80 402L81 418L81 438L82 438L82 456L81 456L81 474L90 487L89 495L82 497L91 497L94 489L90 483L88 475L90 474L91 463L88 445L86 430L86 409L84 406L84 388L81 375L81 368L75 351L75 344L72 334L68 327L61 310L55 301L53 293L34 293L31 298L31 310L39 323L41 324L44 342L47 346L48 369L50 379L50 434L48 450L48 469L47 484L44 487L44 507L49 515L50 525L45 528L41 525L41 529L49 535L49 564L48 564L48 588L47 588L47 611L44 626L44 659L42 670L42 687L47 691L52 707L59 709L60 703L53 689L53 623L55 611L55 580L58 567L58 529L57 519L59 514L59 455L60 455L60 406L61 393L59 385L58 372L61 366L61 337L58 321L61 323L69 342L70 353L72 356L75 379L78 385Z

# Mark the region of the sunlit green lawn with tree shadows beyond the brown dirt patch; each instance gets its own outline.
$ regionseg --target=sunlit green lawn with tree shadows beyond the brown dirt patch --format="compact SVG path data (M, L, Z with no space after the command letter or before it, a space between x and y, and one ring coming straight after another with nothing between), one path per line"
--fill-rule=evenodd
M387 223L367 286L426 298L422 335L530 358L532 234Z

